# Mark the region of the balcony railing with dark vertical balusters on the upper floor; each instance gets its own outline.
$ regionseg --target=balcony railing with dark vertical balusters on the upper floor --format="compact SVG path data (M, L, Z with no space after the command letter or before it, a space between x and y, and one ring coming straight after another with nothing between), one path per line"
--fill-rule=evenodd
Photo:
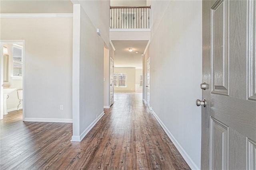
M150 28L151 6L110 6L110 28Z

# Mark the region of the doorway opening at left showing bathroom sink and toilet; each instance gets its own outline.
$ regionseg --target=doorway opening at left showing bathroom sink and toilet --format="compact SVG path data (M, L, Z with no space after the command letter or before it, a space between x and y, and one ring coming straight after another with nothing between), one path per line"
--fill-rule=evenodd
M24 40L2 40L0 43L0 119L8 113L22 114L24 120Z

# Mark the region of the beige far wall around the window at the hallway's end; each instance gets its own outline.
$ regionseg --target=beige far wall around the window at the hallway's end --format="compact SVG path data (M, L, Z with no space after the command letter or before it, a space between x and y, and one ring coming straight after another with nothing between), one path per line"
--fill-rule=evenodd
M135 92L135 67L115 67L114 73L126 73L126 87L114 87L114 92Z

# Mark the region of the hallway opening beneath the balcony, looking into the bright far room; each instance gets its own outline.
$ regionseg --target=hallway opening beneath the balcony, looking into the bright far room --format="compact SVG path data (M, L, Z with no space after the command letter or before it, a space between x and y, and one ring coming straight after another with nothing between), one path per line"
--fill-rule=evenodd
M142 99L144 52L148 41L112 40L112 44L115 48L114 93L138 93Z

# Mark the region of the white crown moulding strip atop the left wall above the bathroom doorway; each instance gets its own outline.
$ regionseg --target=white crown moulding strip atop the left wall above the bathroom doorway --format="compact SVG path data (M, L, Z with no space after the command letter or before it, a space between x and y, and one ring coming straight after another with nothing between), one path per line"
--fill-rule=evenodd
M0 18L73 18L73 13L54 13L54 14L0 14Z

